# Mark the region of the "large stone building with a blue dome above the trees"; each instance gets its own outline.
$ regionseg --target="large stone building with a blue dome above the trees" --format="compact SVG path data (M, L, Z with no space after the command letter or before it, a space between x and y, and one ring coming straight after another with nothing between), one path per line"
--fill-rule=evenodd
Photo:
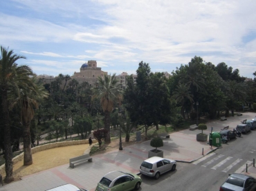
M97 67L97 61L88 61L87 63L82 64L80 72L74 72L72 79L76 79L79 83L83 81L88 82L93 85L96 83L98 77L103 77L104 72L101 68Z

